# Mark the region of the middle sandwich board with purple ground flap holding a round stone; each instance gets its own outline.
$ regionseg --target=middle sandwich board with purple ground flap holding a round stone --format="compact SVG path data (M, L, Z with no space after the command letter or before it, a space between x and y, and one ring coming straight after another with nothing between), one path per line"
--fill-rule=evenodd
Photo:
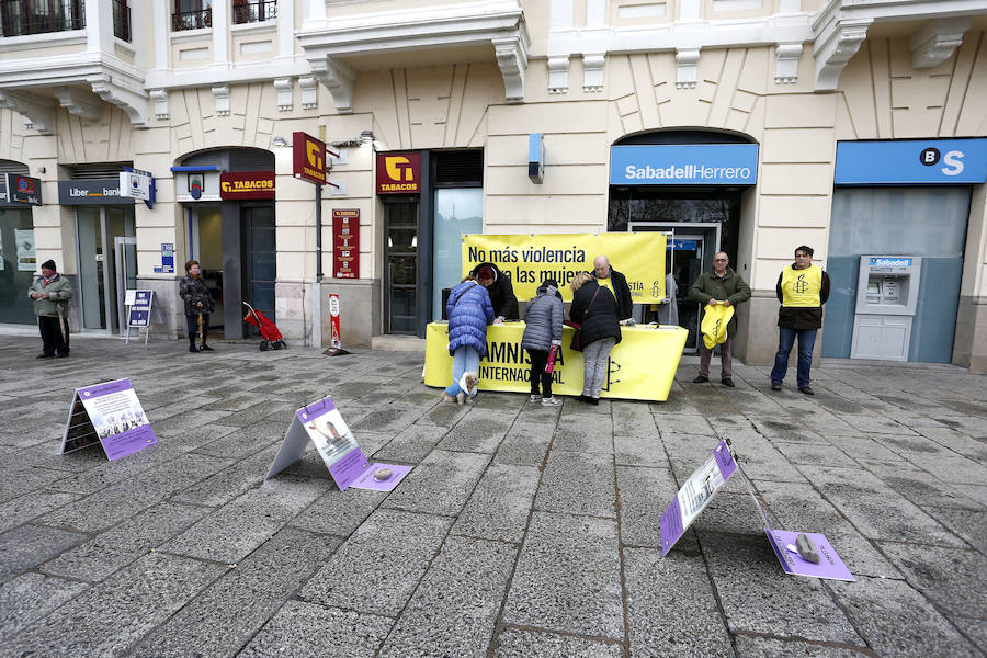
M349 487L390 491L411 470L410 466L371 464L332 398L326 397L295 411L264 479L297 462L309 441L315 444L340 491Z

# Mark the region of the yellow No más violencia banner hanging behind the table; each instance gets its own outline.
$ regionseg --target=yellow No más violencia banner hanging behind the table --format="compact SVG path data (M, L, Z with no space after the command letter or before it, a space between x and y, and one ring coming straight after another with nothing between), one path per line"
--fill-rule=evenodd
M569 282L577 272L591 272L593 260L605 256L627 279L635 304L665 299L665 235L569 234L463 237L463 275L476 265L495 263L511 279L518 299L531 299L546 279L558 282L563 298L572 300Z

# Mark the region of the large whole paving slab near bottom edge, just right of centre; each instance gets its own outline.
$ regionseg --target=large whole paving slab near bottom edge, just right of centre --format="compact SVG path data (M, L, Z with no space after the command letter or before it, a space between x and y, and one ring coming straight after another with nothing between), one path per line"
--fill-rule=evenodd
M625 639L617 552L615 521L535 512L503 621Z

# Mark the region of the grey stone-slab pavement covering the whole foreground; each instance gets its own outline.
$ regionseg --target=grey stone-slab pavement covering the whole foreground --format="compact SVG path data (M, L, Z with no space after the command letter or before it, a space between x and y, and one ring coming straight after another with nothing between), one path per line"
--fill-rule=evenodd
M667 402L460 407L419 353L38 347L0 334L0 657L987 655L987 376L827 361L806 397L687 358ZM159 444L60 455L72 390L120 377ZM394 492L340 492L311 449L264 481L326 395L415 466ZM721 436L856 582L785 576L739 474L661 557Z

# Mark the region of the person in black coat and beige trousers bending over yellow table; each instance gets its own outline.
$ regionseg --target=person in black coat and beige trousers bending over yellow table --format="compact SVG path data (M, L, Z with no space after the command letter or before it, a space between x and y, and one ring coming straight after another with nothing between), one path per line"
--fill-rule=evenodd
M572 349L582 352L582 395L579 400L599 405L610 367L610 351L621 342L617 304L610 288L598 285L589 272L578 273L569 285L572 288L569 319L579 324Z

